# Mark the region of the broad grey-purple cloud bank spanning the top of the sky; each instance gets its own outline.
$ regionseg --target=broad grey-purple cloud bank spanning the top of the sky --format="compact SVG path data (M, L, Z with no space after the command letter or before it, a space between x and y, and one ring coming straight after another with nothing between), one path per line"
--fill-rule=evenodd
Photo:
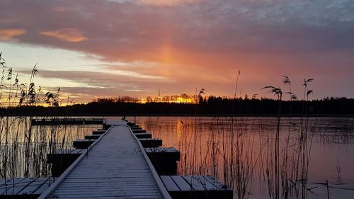
M225 0L167 7L135 1L1 2L1 18L18 21L4 27L28 30L23 42L116 60L159 61L161 45L205 53L309 52L354 45L350 1ZM72 45L40 35L65 28L76 28L88 40Z

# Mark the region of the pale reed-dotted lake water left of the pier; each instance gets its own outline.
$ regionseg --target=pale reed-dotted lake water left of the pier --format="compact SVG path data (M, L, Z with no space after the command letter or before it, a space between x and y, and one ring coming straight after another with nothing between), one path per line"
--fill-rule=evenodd
M0 120L0 178L50 176L47 154L72 149L72 142L101 125L30 125L28 117Z

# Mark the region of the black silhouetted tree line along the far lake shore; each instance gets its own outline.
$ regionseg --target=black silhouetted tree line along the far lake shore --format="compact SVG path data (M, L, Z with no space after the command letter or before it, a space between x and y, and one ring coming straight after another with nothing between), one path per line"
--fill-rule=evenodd
M282 101L282 115L354 115L353 98ZM209 96L199 103L134 103L101 99L62 107L18 106L1 108L1 115L275 115L278 101Z

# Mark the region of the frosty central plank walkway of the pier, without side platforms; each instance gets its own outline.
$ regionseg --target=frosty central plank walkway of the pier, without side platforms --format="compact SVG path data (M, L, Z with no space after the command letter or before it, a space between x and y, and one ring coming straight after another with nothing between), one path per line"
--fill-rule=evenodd
M40 198L171 198L126 122L114 122Z

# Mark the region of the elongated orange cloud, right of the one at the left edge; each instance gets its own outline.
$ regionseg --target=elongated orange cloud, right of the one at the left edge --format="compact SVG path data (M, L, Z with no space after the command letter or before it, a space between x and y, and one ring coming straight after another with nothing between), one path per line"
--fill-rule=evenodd
M87 40L76 28L63 28L55 31L43 31L40 34L58 38L67 42L82 42Z

